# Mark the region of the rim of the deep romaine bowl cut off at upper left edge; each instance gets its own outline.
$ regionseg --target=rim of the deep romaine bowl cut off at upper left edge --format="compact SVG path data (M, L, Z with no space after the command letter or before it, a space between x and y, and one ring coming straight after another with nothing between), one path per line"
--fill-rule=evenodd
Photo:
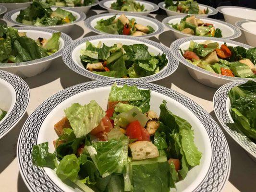
M38 31L38 32L47 32L47 33L57 33L59 31L55 31L52 29L40 29L40 28L31 28L31 27L14 27L18 30L31 30L31 31ZM65 33L61 32L61 39L64 42L63 48L59 49L57 52L41 58L41 59L37 59L37 60L29 60L29 61L24 61L24 62L18 62L18 63L0 63L0 69L4 69L4 68L10 68L10 67L18 67L18 66L24 66L24 65L34 65L34 64L39 64L48 60L53 60L57 57L60 57L62 55L63 50L73 41L72 38L70 36L68 36Z

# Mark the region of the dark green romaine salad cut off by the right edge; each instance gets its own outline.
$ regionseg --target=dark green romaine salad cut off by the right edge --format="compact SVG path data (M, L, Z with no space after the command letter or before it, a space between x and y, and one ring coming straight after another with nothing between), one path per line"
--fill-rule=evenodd
M243 132L256 144L256 82L248 81L233 87L228 96L234 120L228 126L232 130Z

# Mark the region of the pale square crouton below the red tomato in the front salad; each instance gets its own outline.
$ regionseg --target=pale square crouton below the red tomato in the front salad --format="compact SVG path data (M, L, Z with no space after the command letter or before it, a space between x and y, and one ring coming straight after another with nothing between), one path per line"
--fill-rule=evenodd
M133 160L142 160L159 156L158 148L149 141L137 141L129 144Z

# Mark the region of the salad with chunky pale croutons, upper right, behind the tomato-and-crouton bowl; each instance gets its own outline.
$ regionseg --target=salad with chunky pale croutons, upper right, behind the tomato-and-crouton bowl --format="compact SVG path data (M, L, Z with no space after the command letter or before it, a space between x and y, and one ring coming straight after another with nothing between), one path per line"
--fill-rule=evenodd
M213 24L204 23L202 20L195 17L195 15L185 16L180 24L169 24L172 28L181 31L185 34L195 35L195 36L212 36L212 37L222 37L221 30L214 27Z

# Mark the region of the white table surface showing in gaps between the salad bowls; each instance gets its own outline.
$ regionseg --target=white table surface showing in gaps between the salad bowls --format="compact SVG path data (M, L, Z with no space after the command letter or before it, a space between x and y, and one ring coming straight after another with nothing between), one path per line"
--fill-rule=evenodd
M104 11L90 10L87 17L96 15ZM104 12L106 13L106 12ZM160 22L165 15L151 14L150 17L158 19ZM97 35L89 31L84 23L75 25L71 34L73 40L85 36ZM167 28L159 36L151 37L153 41L170 47L174 36ZM244 42L243 38L238 41ZM37 76L25 78L25 82L30 88L31 98L27 111L20 122L0 140L0 192L28 192L27 187L19 173L16 157L16 146L19 132L28 116L47 98L69 86L90 81L90 79L70 70L58 58L52 62L51 67ZM203 107L216 121L213 111L212 98L216 89L207 87L196 82L187 72L186 67L180 63L176 72L171 76L154 82L194 100ZM220 126L221 127L221 126ZM222 129L223 130L223 129ZM254 162L235 141L223 130L231 153L231 172L229 181L223 188L223 192L253 192L256 181L256 162Z

